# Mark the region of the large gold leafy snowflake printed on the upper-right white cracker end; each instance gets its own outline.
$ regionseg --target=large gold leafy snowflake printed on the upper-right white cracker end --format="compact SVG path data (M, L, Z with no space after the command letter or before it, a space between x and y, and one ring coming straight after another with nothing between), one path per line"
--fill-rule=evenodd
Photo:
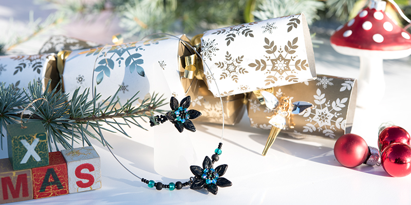
M264 38L266 45L266 59L255 59L255 63L251 63L248 66L255 68L255 71L263 71L267 74L265 86L273 85L278 80L287 80L289 82L298 81L298 71L307 70L308 60L296 59L296 55L293 55L298 48L298 37L295 37L292 42L288 41L287 45L284 45L284 50L280 46L274 44L274 41L270 41L268 38ZM284 54L284 56L283 56ZM294 62L292 62L294 61Z

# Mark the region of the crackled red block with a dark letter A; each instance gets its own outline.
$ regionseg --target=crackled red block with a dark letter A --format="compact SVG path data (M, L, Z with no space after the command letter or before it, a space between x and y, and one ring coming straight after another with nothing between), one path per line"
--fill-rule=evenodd
M34 199L68 194L67 164L61 152L50 152L50 164L33 172Z

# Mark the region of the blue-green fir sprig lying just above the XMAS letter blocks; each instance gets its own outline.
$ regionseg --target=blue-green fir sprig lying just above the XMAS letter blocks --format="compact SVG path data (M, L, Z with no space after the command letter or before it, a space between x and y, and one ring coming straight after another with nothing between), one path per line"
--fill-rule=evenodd
M32 105L27 110L31 113L23 114L23 122L42 121L49 136L49 145L54 144L55 150L59 150L57 144L61 144L64 149L70 149L73 142L80 139L83 146L84 143L91 146L88 137L97 139L103 145L107 144L103 140L102 130L120 132L130 137L121 126L134 125L144 129L138 122L138 118L146 121L144 118L154 119L154 112L165 112L159 109L160 106L164 105L164 99L158 94L138 101L139 98L136 97L138 93L136 93L122 105L117 96L119 90L113 96L102 100L101 103L99 103L101 94L97 94L96 89L91 99L88 99L89 89L82 93L80 89L76 89L71 99L69 99L69 94L63 93L57 87L51 90L50 82L44 90L43 92L42 85L36 82L30 83L27 91L15 89L12 85L6 87L4 83L0 83L0 132L2 132L0 142L2 149L3 137L5 137L3 128L9 124L20 123L21 112L30 103ZM43 103L43 100L35 101L39 98L45 98L46 103ZM108 126L101 127L103 124ZM88 128L94 130L95 133L90 132ZM51 146L49 149L51 151Z

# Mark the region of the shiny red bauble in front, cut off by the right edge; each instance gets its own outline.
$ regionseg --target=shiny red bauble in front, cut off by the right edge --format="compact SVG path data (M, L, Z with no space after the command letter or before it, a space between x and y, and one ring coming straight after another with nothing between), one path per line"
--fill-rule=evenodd
M385 148L381 165L391 176L403 177L411 173L411 147L395 143Z

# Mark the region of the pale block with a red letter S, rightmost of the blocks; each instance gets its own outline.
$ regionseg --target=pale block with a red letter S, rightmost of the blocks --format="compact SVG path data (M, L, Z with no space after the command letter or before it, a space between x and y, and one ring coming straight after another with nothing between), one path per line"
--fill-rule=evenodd
M68 170L70 194L101 188L100 156L93 147L62 150Z

